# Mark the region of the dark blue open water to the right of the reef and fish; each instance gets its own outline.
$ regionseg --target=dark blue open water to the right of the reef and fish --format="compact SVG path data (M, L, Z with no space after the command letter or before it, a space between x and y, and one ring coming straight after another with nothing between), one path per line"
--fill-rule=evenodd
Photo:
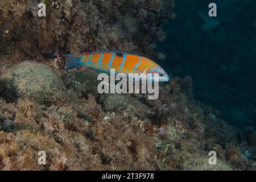
M217 18L205 20L199 12L207 16L211 2ZM220 111L229 124L255 127L256 1L175 5L176 18L166 24L167 39L158 45L167 55L160 64L172 76L192 76L195 100Z

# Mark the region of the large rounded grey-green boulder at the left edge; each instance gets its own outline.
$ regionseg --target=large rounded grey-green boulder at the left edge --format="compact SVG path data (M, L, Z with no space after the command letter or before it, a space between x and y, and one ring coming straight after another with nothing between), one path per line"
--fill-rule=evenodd
M64 98L64 84L50 67L23 61L0 75L0 96L7 101L34 98L40 104L50 105Z

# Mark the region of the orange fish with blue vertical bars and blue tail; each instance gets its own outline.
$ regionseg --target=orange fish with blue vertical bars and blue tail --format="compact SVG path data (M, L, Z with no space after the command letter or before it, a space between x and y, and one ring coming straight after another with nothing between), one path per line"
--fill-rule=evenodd
M66 54L65 71L70 71L74 68L88 67L101 72L110 73L111 69L115 69L115 73L144 73L146 76L151 73L159 74L159 80L166 82L170 80L167 72L160 65L146 57L134 55L121 51L93 51L84 55Z

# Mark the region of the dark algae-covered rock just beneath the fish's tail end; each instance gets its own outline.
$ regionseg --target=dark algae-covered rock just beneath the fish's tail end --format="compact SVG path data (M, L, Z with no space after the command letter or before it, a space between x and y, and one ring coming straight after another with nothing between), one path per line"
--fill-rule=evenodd
M97 86L100 82L97 80L97 76L98 74L93 71L75 71L66 73L62 76L62 79L68 89L73 89L84 97L92 94L97 99L101 96L97 91Z

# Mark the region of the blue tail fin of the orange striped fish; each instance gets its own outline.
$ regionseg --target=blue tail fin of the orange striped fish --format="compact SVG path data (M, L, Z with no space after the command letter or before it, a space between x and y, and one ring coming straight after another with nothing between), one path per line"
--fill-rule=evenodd
M63 57L65 59L65 66L66 66L64 71L68 71L70 69L85 65L83 55L67 54L67 55L63 55Z

